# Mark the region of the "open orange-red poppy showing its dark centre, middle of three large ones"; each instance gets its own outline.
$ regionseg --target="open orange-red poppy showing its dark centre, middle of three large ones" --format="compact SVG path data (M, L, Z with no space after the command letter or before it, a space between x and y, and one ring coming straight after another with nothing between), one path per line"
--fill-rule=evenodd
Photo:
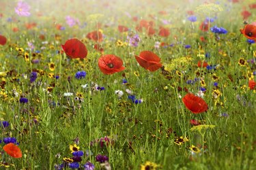
M113 54L100 56L98 66L104 74L113 74L125 69L122 59Z

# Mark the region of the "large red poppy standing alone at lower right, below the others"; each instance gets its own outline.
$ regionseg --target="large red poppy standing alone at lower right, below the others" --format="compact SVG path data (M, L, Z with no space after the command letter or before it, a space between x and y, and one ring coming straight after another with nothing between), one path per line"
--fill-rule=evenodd
M208 105L201 97L197 97L192 93L186 94L182 101L187 109L189 109L193 114L200 114L208 110Z

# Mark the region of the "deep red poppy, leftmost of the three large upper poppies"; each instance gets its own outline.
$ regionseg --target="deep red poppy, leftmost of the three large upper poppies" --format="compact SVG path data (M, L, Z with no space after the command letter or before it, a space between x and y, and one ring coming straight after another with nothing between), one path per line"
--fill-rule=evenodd
M87 56L87 49L79 39L68 39L61 48L70 58L85 58Z

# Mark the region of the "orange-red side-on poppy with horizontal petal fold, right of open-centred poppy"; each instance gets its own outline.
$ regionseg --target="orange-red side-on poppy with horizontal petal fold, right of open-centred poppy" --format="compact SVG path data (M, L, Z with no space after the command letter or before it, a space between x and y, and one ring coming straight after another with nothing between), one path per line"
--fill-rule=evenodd
M143 51L139 56L135 55L135 58L141 67L149 71L156 71L162 67L160 58L153 52Z

